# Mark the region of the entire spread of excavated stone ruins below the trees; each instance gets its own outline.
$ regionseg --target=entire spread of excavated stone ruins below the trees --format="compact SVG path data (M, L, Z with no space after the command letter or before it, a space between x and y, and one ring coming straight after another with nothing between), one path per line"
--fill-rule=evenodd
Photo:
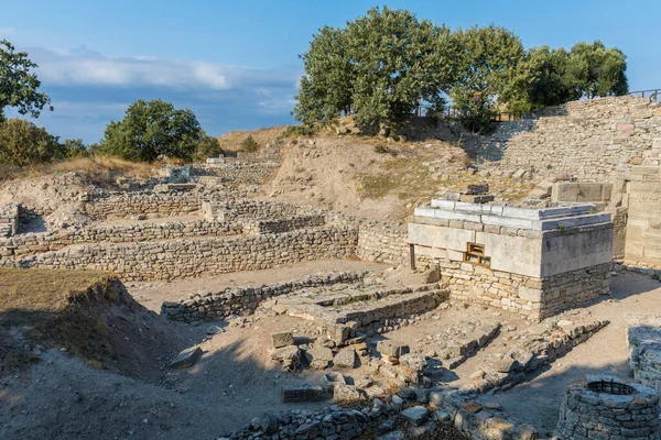
M145 301L166 289L150 306L163 321L209 330L163 360L165 382L225 380L209 366L234 355L224 338L257 345L234 370L277 371L277 397L232 400L224 439L658 439L661 107L572 102L463 142L475 183L403 223L264 196L284 154L270 147L71 194L41 230L59 211L0 206L0 267L104 271ZM530 194L505 202L490 179ZM607 339L626 362L593 365Z

